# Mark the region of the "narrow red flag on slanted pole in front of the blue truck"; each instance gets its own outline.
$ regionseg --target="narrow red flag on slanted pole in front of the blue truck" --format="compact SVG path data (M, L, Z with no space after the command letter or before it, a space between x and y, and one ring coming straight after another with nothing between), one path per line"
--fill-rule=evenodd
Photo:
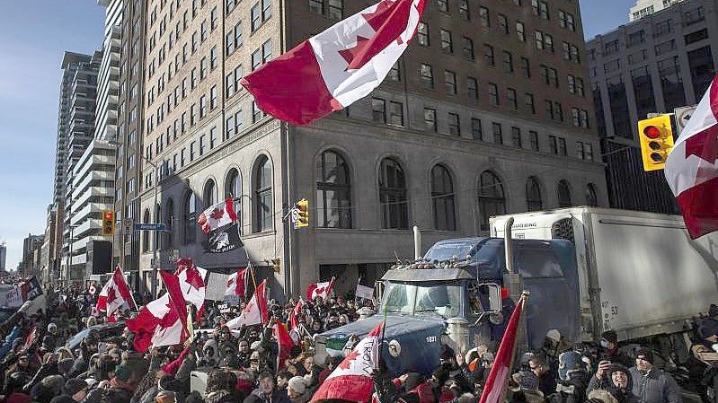
M519 330L519 319L521 311L524 308L526 300L521 298L516 304L516 309L511 314L509 326L501 338L501 346L496 353L496 359L493 362L492 371L486 379L486 386L483 388L481 400L479 403L502 403L503 395L506 393L506 387L509 385L509 374L511 371L511 359L516 348L516 337Z

